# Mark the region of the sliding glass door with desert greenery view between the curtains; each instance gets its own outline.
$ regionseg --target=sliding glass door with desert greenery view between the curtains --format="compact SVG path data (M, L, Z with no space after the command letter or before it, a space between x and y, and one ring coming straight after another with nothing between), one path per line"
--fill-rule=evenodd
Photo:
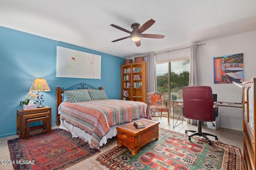
M170 112L176 118L180 116L181 108L173 111L170 101L182 99L182 88L188 86L189 62L189 59L181 59L156 64L157 91L162 93L162 100L168 101Z

